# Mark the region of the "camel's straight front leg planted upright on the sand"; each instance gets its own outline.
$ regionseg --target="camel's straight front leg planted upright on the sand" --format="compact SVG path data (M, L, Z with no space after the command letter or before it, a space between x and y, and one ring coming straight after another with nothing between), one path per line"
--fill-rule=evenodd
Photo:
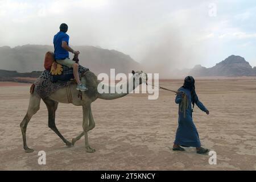
M82 129L84 129L84 137L85 137L85 147L86 152L95 152L93 148L90 147L88 142L88 118L89 118L89 107L82 106Z

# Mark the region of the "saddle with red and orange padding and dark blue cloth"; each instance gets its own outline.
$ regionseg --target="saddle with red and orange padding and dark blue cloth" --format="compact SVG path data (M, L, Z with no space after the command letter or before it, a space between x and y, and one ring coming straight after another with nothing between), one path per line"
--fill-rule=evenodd
M78 55L75 55L72 60L79 63ZM55 60L54 53L51 51L46 53L44 58L44 68L50 71L53 82L74 80L73 68L58 64Z

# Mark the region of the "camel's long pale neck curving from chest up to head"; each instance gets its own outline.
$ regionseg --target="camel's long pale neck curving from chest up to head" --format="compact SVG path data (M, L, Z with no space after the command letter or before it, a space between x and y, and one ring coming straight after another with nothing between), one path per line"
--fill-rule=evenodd
M102 82L99 83L98 88L102 88L104 84L102 84ZM123 84L125 85L125 83ZM129 79L129 82L126 82L126 92L125 93L121 93L121 92L117 92L117 89L108 86L108 85L104 85L104 86L108 86L108 88L106 88L106 90L109 90L109 93L101 93L98 94L98 98L104 99L104 100L113 100L116 98L121 98L126 96L127 94L129 94L130 92L132 92L135 88L137 88L139 84L137 82L134 81L133 77L131 77ZM111 90L114 90L115 92L112 93Z

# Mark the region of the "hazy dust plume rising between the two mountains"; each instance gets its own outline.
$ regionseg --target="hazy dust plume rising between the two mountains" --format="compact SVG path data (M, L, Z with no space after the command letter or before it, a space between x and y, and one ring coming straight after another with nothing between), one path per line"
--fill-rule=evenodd
M195 48L191 48L191 39L183 38L178 28L166 28L150 42L141 61L147 73L159 73L159 78L180 78L195 65Z

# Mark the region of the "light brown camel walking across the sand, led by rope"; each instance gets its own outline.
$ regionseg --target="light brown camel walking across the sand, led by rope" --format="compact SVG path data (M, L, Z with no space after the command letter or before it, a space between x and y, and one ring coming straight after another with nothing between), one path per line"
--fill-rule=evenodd
M133 78L129 79L129 82L126 82L127 84L127 92L126 93L98 93L97 88L98 86L103 86L102 82L97 80L96 75L94 75L93 72L86 72L85 75L81 76L81 82L83 84L86 84L88 87L88 91L86 92L80 92L79 90L76 90L76 83L73 82L69 85L70 94L68 97L66 88L59 89L55 92L53 92L49 97L47 98L41 98L38 93L32 92L30 95L30 101L28 105L27 114L25 115L23 121L20 123L20 129L22 131L22 138L23 138L23 148L26 152L33 152L31 148L27 146L26 142L26 130L28 122L30 121L32 115L36 114L36 112L39 110L40 107L40 100L42 99L44 103L47 106L48 110L48 127L52 129L60 138L63 140L63 142L66 144L66 146L73 146L77 140L79 140L83 135L85 136L85 148L86 152L95 152L96 150L92 147L90 147L88 142L88 131L92 130L95 127L95 122L93 119L91 104L97 98L103 99L103 100L114 100L116 98L121 98L132 92L137 86L142 84L144 80L147 80L147 74L143 73L142 71L139 72L132 72ZM99 85L102 84L102 85ZM129 85L133 85L130 86ZM106 86L106 85L104 85ZM109 90L110 90L110 86ZM81 97L78 97L79 94L81 94ZM72 98L72 101L70 100ZM76 138L72 139L72 142L69 142L67 139L61 135L59 130L57 129L55 125L55 112L57 110L57 106L60 103L69 104L72 103L75 106L82 106L82 133L79 134Z

